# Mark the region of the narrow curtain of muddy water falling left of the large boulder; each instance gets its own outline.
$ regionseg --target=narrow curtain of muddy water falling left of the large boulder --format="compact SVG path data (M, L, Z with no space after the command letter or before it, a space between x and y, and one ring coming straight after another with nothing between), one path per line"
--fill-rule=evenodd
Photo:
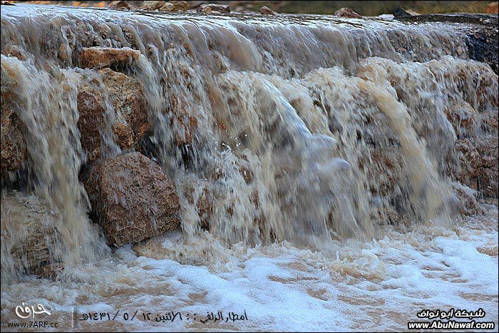
M96 227L88 223L86 193L78 180L81 167L76 125L78 76L72 71L51 67L41 71L32 59L19 61L1 55L1 63L9 68L16 81L18 115L29 129L24 138L29 168L34 174L31 186L58 212L59 217L53 225L58 232L58 241L49 249L51 257L56 262L65 262L68 267L95 261L106 252L103 250L106 247L98 237ZM15 243L15 236L5 242ZM10 256L2 253L4 257L9 262ZM9 268L6 272L2 270L2 277L4 273L12 274L14 268ZM9 276L5 277L9 280Z

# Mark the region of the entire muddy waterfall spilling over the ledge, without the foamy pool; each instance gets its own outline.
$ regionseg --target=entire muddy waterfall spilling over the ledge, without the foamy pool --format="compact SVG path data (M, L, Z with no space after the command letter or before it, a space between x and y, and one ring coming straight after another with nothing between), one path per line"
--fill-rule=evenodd
M77 67L83 46L140 51L120 70L143 85L148 152L178 189L191 248L201 239L290 240L324 250L331 237L375 236L385 208L408 220L450 220L455 198L441 169L456 133L444 109L449 101L490 106L473 94L477 86L446 75L497 82L490 68L465 59L463 35L438 24L21 7L2 10L1 48L16 45L29 59L1 61L24 89L18 112L29 129L34 187L61 211L54 256L69 263L106 249L78 182L82 77L95 78L106 96L98 74ZM497 98L497 88L482 95ZM106 115L112 123L111 103ZM109 126L103 151L115 155ZM197 207L206 197L209 233Z

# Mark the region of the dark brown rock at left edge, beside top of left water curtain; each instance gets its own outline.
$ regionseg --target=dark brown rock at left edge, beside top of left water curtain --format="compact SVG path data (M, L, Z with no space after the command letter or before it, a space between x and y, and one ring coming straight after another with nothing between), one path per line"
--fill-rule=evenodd
M26 142L22 132L24 125L17 116L15 110L19 107L23 98L18 96L16 88L14 68L10 68L6 62L1 63L1 138L0 138L0 165L1 180L9 178L9 172L23 168L26 158Z

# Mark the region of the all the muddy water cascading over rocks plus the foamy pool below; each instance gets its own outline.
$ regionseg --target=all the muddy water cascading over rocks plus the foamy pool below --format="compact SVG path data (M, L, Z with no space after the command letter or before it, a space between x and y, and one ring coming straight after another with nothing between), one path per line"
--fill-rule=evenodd
M487 206L486 217L458 217L447 173L460 135L448 108L470 106L480 123L498 106L498 76L469 60L465 39L451 24L438 23L2 6L2 117L5 100L19 117L27 148L21 171L4 179L2 169L2 324L13 318L19 299L34 297L52 304L66 325L71 307L164 312L165 302L186 311L199 303L197 311L205 312L263 302L267 310L252 315L272 327L279 322L267 312L272 302L289 301L278 296L284 290L326 321L361 311L358 321L346 319L348 327L400 329L405 324L398 314L416 314L424 305L416 299L460 277L463 289L449 291L461 295L456 303L431 304L484 302L497 322L490 306L497 303L497 273L490 285L454 267L473 260L489 272L497 267L497 208ZM113 106L106 71L80 68L80 51L94 46L140 52L134 61L110 66L143 89L148 132L133 147L120 147L113 133L125 115ZM140 150L158 162L180 196L182 232L118 250L106 245L88 217L81 183L81 168L96 158L83 151L78 128L78 92L86 89L104 101L103 125L93 138L101 158ZM7 98L16 103L7 105ZM475 131L497 135L490 128ZM43 218L56 216L56 237L47 246L51 263L64 266L57 282L24 275L26 260L13 255L26 238L20 225L29 219L16 209L38 200L51 209ZM402 222L393 226L393 215ZM478 253L472 242L491 255ZM458 246L477 255L460 255ZM446 252L457 261L446 263ZM207 265L210 272L187 264ZM416 287L403 265L421 279L439 280ZM253 282L237 280L243 277L277 289L255 296ZM203 279L235 298L210 290ZM400 288L404 279L406 299L387 300L383 290ZM483 297L463 296L476 291L475 282L489 286ZM246 292L237 293L239 287ZM330 299L351 301L341 309ZM388 319L374 311L382 305ZM319 323L323 329L338 324Z

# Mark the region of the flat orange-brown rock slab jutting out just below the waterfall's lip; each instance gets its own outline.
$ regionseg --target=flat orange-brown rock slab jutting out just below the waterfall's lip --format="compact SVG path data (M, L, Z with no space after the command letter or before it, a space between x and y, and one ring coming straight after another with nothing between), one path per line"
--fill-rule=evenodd
M83 48L80 52L81 68L102 68L109 66L126 66L138 60L140 51L132 48L110 48L93 46Z

